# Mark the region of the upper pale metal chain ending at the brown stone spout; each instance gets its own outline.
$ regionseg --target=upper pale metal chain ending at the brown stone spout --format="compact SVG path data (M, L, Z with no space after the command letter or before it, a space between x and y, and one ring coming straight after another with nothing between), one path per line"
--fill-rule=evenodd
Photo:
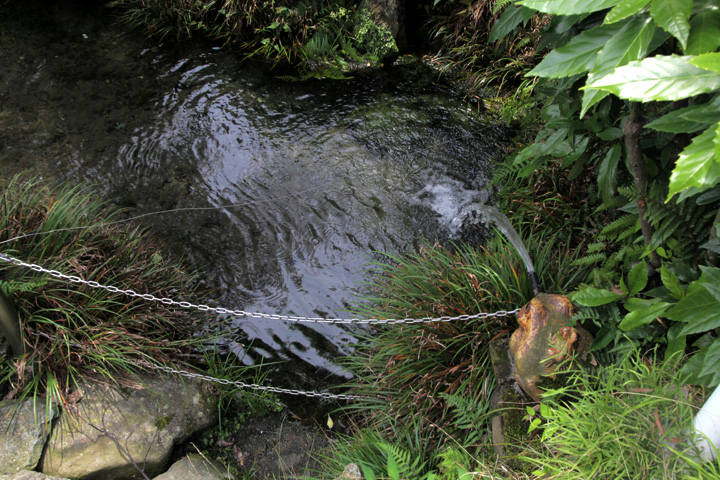
M379 324L379 325L396 325L396 324L414 324L414 323L431 323L431 322L451 322L454 320L474 320L479 318L491 318L491 317L506 317L508 315L514 315L520 311L519 308L516 308L515 310L500 310L497 312L492 313L476 313L473 315L457 315L454 317L446 316L446 317L423 317L423 318L390 318L390 319L381 319L381 318L369 318L369 319L360 319L360 318L322 318L322 317L295 317L295 316L289 316L289 315L278 315L278 314L271 314L271 313L259 313L259 312L246 312L244 310L230 310L223 307L211 307L209 305L203 305L203 304L194 304L186 301L177 301L173 300L171 298L167 297L156 297L155 295L149 294L149 293L138 293L134 290L123 290L118 287L109 286L109 285L103 285L98 282L84 280L80 277L74 276L74 275L66 275L62 272L58 272L57 270L48 270L47 268L44 268L40 265L33 264L33 263L26 263L22 260L18 260L17 258L11 257L10 255L6 255L4 253L0 253L0 260L12 263L21 267L27 267L31 270L34 270L36 272L42 272L47 273L52 277L60 278L62 280L67 280L70 283L79 283L83 285L87 285L92 288L101 288L103 290L107 290L111 293L122 293L124 295L127 295L129 297L136 297L136 298L142 298L143 300L149 301L149 302L159 302L163 305L175 305L181 308L194 308L196 310L200 310L203 312L215 312L221 315L232 315L235 317L252 317L252 318L267 318L271 320L285 320L288 322L309 322L309 323L340 323L340 324L361 324L361 325L367 325L367 324Z

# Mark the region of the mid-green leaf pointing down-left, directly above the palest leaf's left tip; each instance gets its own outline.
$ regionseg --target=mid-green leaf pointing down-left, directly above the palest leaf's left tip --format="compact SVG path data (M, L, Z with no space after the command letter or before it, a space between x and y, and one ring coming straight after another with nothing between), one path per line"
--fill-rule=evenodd
M602 25L580 33L567 45L548 53L526 76L559 78L587 72L598 52L621 28L622 25Z

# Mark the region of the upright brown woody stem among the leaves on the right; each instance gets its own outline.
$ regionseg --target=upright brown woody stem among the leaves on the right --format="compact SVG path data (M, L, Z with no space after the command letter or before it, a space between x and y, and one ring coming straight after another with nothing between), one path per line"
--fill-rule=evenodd
M645 168L645 159L643 158L642 148L640 147L640 133L642 132L641 108L641 103L632 103L630 107L630 117L623 127L623 137L625 139L625 148L628 152L628 159L630 160L630 165L633 170L635 186L640 193L640 197L638 198L640 228L642 229L645 245L650 246L654 231L646 215L647 203L645 202L645 192L647 189L647 169ZM652 251L650 263L653 267L660 268L660 256L655 250Z

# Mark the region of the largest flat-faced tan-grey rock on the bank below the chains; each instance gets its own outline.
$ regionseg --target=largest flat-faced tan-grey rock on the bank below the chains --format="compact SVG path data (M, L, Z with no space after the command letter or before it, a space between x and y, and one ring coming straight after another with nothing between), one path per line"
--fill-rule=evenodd
M217 420L199 381L148 377L141 388L92 384L53 429L41 471L84 480L141 478L165 470L173 447Z

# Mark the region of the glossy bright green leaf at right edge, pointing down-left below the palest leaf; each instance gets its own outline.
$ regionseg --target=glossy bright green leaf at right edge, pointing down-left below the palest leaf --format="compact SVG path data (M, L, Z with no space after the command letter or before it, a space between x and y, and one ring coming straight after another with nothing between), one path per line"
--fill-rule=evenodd
M703 191L720 183L720 159L715 153L719 129L720 123L711 125L680 153L670 176L667 200L691 187Z

